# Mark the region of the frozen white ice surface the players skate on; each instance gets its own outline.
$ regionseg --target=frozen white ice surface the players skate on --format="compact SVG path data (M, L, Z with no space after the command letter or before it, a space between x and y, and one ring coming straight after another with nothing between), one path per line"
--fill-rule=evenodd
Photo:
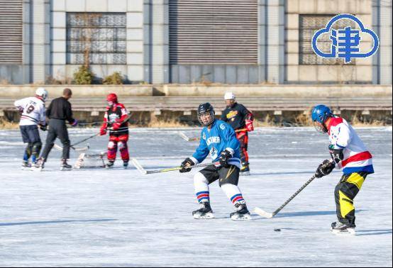
M72 142L98 129L70 131ZM182 130L198 136L196 128ZM146 169L179 165L197 143L178 130L132 129L132 157ZM392 128L361 128L376 173L355 199L358 235L333 235L334 172L316 179L275 218L229 219L215 183L215 220L194 220L194 172L60 172L53 149L45 172L21 171L18 130L0 130L0 266L347 266L392 267ZM106 137L89 141L105 150ZM250 209L274 211L329 157L313 128L260 128L250 134L250 177L240 177ZM77 158L72 152L72 161ZM116 162L121 166L121 161ZM280 228L281 232L275 232Z

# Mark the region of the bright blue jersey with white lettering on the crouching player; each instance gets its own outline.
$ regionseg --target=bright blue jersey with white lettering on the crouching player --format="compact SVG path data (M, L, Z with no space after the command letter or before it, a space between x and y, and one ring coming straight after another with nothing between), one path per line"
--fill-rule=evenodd
M200 163L210 153L211 160L218 162L221 152L228 150L232 154L228 164L233 164L240 168L239 147L240 143L231 125L228 125L224 121L215 120L210 130L207 127L204 127L202 130L201 143L196 148L194 155L192 155L192 160L195 164Z

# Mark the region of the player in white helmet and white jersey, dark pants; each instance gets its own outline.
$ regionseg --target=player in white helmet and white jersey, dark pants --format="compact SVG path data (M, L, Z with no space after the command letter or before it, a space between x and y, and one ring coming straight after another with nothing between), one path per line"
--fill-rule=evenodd
M35 91L35 96L15 101L14 105L21 112L21 121L19 128L23 138L23 143L27 143L23 155L22 169L30 168L35 164L40 155L41 143L38 126L46 131L47 124L45 121L45 101L48 98L48 91L42 87ZM31 162L29 160L31 159Z

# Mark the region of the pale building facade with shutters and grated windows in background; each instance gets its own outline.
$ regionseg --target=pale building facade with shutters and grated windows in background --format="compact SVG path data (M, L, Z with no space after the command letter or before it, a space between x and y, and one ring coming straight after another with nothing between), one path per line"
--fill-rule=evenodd
M379 35L376 55L314 54L337 13ZM392 0L0 0L0 15L0 83L67 81L88 62L133 83L392 84Z

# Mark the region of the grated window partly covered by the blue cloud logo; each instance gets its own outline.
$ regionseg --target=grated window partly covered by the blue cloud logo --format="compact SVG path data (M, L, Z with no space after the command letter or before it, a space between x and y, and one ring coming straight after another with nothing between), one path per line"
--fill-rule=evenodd
M319 57L312 50L311 42L314 33L321 28L325 28L326 24L335 15L300 15L299 23L299 65L341 65L343 59L325 59ZM350 20L340 20L333 24L334 29L345 28L350 26L351 28L356 27L356 23ZM324 52L330 51L331 40L329 35L321 35L318 40L318 47ZM355 60L352 60L350 64L355 64Z

